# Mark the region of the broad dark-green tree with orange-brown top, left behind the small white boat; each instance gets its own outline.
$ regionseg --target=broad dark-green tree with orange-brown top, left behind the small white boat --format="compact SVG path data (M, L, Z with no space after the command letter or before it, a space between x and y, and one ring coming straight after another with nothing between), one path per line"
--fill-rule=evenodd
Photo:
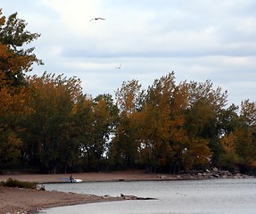
M72 111L81 95L80 80L47 74L28 77L33 113L22 121L26 127L23 156L49 173L66 171L78 156L78 128Z

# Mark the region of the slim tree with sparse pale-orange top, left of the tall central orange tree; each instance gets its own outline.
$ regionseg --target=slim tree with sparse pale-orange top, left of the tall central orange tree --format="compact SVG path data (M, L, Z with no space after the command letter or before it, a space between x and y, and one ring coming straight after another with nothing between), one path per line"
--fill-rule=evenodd
M144 90L137 80L123 82L115 94L119 121L111 143L111 163L116 167L134 167L138 161L136 112L144 101Z

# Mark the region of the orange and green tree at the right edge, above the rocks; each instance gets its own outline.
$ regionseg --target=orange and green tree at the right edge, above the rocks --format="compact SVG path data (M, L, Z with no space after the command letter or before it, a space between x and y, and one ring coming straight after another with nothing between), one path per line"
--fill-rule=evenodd
M245 100L241 103L240 115L236 113L238 107L234 105L225 111L227 125L221 138L221 168L233 171L239 169L243 173L256 169L255 109L255 103Z

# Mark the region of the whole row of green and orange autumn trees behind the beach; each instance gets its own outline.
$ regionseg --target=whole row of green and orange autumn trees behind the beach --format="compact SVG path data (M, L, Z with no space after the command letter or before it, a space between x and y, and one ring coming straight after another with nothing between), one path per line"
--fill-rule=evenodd
M227 106L211 80L177 83L174 72L92 97L79 78L29 76L43 62L28 48L40 35L26 26L0 10L0 172L256 172L255 102Z

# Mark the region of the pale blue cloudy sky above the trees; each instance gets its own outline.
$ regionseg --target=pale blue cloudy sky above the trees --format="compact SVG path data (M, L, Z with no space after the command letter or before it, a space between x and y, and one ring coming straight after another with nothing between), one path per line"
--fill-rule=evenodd
M1 0L0 8L41 34L30 45L45 65L30 74L75 76L84 94L114 95L132 79L146 89L174 71L177 84L210 79L228 104L256 102L255 0Z

